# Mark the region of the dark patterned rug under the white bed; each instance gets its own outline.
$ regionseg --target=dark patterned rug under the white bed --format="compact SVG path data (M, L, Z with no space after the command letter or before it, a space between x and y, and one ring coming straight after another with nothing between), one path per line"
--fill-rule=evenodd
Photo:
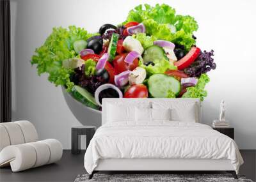
M231 174L94 174L92 179L88 179L88 174L78 175L75 182L119 182L119 181L136 181L136 182L191 182L191 181L210 181L210 182L253 182L244 176L238 176L234 179Z

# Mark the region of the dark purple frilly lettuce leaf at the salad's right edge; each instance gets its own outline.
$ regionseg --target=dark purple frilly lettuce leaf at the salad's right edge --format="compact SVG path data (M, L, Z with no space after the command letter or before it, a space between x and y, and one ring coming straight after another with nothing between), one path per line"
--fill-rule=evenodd
M200 77L202 73L207 73L216 68L216 63L213 61L213 50L207 52L200 52L200 55L196 58L188 68L184 70L190 77Z

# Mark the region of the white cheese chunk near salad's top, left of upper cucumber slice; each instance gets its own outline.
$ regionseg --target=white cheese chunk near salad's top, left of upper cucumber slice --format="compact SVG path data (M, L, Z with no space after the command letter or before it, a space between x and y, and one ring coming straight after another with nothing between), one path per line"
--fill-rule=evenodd
M136 40L135 38L133 38L132 36L127 36L123 42L123 46L124 49L127 52L130 51L136 51L138 52L140 55L143 53L143 47L140 43L140 41Z

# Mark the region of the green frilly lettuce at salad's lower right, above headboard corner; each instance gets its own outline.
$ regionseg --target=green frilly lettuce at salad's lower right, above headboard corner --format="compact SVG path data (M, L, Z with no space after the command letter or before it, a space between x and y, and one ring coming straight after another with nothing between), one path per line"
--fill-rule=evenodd
M201 101L207 96L205 85L210 81L209 77L204 73L198 79L197 84L194 87L188 87L186 93L182 95L182 98L200 98Z

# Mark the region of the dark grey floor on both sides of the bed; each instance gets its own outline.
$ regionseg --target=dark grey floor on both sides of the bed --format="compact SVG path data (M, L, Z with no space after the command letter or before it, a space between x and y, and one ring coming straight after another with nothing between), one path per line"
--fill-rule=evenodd
M244 164L240 174L255 181L256 150L241 150ZM78 174L86 173L83 165L84 152L72 155L70 150L63 151L63 157L58 163L29 169L22 172L12 172L10 167L0 169L0 181L74 181Z

